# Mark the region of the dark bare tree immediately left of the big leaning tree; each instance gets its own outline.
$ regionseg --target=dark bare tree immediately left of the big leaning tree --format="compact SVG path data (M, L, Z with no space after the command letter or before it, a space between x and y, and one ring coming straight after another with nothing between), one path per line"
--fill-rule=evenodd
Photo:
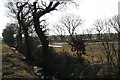
M24 37L25 37L25 55L28 60L31 60L31 45L30 45L30 36L28 33L28 27L32 25L32 16L31 10L29 9L28 2L18 2L16 3L18 14L17 20L20 26L22 26Z

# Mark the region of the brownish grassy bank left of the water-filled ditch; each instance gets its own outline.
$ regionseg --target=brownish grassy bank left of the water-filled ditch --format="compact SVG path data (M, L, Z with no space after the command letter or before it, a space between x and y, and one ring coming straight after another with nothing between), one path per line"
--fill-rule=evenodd
M2 77L37 78L31 68L4 43L2 45Z

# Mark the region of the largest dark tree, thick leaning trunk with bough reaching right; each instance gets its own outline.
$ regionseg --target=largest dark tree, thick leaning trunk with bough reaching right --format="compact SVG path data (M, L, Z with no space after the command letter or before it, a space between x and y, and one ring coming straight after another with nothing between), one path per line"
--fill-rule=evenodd
M40 18L45 15L46 13L50 13L51 11L55 10L56 7L59 5L59 2L53 3L50 2L48 6L46 6L45 8L41 8L38 6L38 2L34 2L33 3L33 23L34 23L34 28L35 31L42 43L42 49L43 49L43 54L48 54L49 53L49 47L48 47L48 40L46 35L44 34L44 30L42 30L41 26L40 26Z

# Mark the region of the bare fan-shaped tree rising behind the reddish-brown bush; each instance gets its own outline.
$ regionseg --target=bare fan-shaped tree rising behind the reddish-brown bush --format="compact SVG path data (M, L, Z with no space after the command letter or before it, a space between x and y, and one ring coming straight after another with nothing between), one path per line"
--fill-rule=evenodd
M70 34L71 39L73 39L75 36L75 31L80 25L82 24L82 19L78 16L69 14L65 15L61 19L61 24L66 28L68 33Z

